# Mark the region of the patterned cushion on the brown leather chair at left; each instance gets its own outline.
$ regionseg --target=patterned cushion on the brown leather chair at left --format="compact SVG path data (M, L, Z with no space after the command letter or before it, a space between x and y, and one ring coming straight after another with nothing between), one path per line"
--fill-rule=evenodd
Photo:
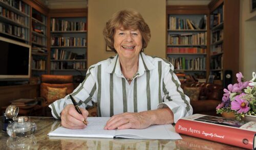
M55 100L64 98L67 95L68 88L51 88L47 87L47 102L52 103Z

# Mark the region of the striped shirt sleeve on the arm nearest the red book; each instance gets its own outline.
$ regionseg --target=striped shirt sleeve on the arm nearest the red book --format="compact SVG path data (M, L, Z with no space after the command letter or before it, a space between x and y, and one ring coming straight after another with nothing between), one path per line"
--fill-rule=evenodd
M193 114L189 97L183 93L180 81L174 73L174 67L169 63L169 67L164 70L163 77L163 102L158 108L168 107L174 113L174 123L180 118Z

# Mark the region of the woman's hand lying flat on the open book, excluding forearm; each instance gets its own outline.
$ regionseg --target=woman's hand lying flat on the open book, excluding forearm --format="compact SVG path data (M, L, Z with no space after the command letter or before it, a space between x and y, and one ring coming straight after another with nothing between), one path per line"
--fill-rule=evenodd
M105 130L125 128L146 128L153 124L152 114L148 111L140 113L123 113L114 115L104 127Z

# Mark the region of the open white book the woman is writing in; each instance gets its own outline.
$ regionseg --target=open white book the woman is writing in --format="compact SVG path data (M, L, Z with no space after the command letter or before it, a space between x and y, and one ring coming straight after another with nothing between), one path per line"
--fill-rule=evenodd
M88 117L88 126L83 129L69 129L63 126L50 132L48 136L129 138L129 139L182 139L172 124L152 125L144 129L104 130L110 117Z

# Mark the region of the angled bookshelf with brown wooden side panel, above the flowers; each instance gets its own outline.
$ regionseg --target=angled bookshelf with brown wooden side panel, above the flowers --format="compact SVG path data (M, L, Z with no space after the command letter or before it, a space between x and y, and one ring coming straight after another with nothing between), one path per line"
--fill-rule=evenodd
M239 71L239 0L211 1L210 9L210 74L215 82L227 87L236 82ZM228 11L225 11L228 10ZM232 71L232 80L225 72Z

